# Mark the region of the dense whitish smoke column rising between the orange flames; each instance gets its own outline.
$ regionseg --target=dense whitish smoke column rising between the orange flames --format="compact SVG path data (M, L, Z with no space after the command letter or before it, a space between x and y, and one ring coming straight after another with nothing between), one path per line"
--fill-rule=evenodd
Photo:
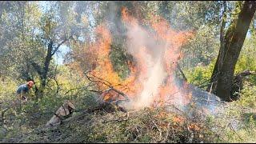
M162 64L162 47L139 25L127 27L127 51L133 55L140 71L138 81L142 83L136 107L150 106L158 87L162 85L166 72Z

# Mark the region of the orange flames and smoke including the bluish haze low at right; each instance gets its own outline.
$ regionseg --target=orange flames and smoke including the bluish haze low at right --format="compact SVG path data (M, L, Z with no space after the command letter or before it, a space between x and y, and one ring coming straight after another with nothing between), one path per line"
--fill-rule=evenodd
M122 21L127 31L126 51L133 57L127 62L130 76L126 79L118 76L110 61L110 30L103 25L97 27L99 37L86 49L94 59L93 70L85 73L95 85L92 91L97 92L103 102L115 103L125 110L169 105L184 108L191 102L209 108L220 103L213 94L174 77L182 58L181 46L193 34L173 30L161 17L151 19L149 27L144 28L126 8L122 9Z

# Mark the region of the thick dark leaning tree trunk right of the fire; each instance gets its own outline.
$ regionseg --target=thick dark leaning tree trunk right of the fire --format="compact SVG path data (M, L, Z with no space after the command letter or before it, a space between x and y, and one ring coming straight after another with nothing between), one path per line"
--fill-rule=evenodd
M232 101L230 91L234 79L234 67L238 61L250 22L254 17L256 2L246 1L240 10L238 18L231 22L229 29L226 31L226 42L224 47L221 47L223 50L220 50L223 53L219 54L220 58L218 59L218 61L221 61L222 66L219 68L216 94L226 102ZM218 63L220 62L216 62L216 64Z

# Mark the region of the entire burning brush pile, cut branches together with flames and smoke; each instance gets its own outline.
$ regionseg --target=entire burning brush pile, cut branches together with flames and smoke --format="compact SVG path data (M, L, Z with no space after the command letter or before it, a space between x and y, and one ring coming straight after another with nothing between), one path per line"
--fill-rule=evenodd
M126 51L133 57L127 62L130 74L125 79L110 61L110 30L98 26L98 38L84 52L90 54L92 69L84 74L93 84L90 91L101 100L99 106L64 120L62 126L34 130L21 141L210 142L218 138L205 121L222 102L174 76L183 57L181 46L193 34L173 30L158 16L151 19L145 28L122 9Z

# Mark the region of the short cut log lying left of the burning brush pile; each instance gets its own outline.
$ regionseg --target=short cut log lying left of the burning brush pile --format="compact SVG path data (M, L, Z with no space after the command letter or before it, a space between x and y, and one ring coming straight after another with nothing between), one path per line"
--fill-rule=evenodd
M50 118L50 121L46 123L46 127L60 125L62 120L72 114L73 110L75 109L74 105L70 101L65 101L62 106L58 108L56 113Z

